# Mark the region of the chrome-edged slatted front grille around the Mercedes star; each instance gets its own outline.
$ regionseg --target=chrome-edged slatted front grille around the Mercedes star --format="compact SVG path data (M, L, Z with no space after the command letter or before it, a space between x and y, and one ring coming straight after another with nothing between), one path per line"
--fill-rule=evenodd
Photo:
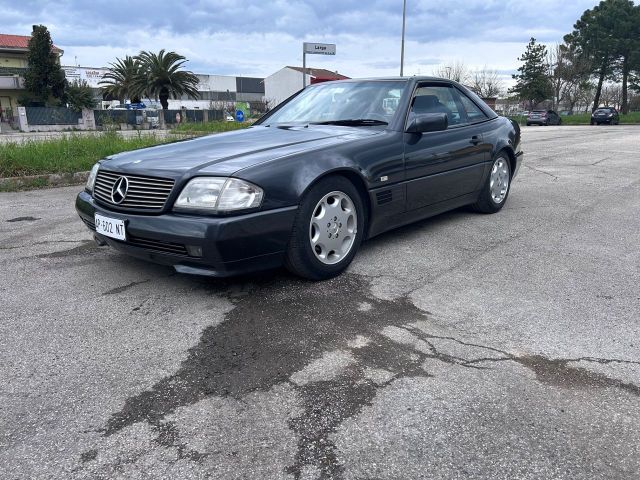
M113 184L120 177L129 181L129 189L122 203L111 199ZM98 170L93 196L100 203L118 208L131 208L144 211L160 211L167 203L173 189L174 180L170 178L143 177L140 175L123 175L121 173Z

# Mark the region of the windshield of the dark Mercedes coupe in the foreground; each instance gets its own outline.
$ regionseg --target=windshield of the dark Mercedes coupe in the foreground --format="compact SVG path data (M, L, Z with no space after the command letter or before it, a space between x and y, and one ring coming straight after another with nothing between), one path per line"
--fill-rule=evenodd
M314 85L260 123L386 125L395 117L406 85L397 80Z

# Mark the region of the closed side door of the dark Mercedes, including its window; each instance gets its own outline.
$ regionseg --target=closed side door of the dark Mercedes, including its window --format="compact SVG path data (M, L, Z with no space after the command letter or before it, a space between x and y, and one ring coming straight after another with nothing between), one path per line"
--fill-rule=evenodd
M478 188L486 161L482 127L470 120L460 95L448 83L421 83L416 88L407 121L415 114L446 113L449 127L439 132L404 134L407 210L434 205ZM480 109L476 110L487 120Z

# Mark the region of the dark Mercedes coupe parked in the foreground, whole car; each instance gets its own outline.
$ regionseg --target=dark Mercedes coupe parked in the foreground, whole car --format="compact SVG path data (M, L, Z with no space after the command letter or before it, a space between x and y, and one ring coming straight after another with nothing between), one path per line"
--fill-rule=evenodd
M179 272L339 274L360 243L507 201L520 129L448 80L312 85L246 130L98 162L76 209L99 244Z

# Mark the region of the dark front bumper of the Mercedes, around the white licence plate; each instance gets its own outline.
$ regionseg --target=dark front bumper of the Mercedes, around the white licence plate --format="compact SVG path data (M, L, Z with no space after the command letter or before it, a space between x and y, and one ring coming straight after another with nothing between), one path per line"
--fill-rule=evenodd
M98 240L178 272L226 277L282 265L297 206L229 217L165 213L137 215L97 204L86 191L76 211ZM95 233L95 213L125 222L127 240Z

